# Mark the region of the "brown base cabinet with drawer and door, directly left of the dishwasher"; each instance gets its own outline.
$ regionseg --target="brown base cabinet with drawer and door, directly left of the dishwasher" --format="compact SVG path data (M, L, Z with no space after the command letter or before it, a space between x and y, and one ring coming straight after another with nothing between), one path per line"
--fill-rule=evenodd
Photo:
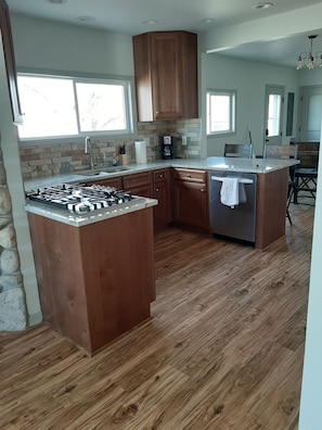
M172 218L209 231L207 172L172 169Z

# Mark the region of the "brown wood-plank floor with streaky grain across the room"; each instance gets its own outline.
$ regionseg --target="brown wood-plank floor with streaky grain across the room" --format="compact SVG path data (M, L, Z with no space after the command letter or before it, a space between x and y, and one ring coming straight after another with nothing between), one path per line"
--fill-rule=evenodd
M297 428L313 207L265 252L156 235L153 318L93 357L44 325L0 333L0 428Z

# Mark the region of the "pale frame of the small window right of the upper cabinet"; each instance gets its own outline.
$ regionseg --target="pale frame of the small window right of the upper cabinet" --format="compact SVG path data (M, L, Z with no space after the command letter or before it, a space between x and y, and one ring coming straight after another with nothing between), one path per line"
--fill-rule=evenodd
M206 92L206 134L208 137L222 137L222 136L231 136L236 132L236 90L232 89L208 89ZM228 96L229 97L229 129L228 130L210 130L210 98L211 96Z

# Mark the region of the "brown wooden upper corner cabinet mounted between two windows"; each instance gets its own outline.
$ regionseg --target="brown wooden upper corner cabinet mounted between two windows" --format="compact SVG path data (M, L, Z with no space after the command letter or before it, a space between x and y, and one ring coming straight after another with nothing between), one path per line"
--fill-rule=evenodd
M197 117L197 35L154 31L132 42L138 119Z

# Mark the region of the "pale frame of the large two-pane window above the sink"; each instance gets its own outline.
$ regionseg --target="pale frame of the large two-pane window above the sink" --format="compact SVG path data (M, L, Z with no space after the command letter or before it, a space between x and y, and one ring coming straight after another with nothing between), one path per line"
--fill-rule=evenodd
M21 138L18 137L20 144L30 144L30 142L37 142L42 144L50 143L60 143L60 142L75 142L79 140L83 140L86 136L91 136L93 138L129 138L134 136L136 134L136 124L137 124L137 111L134 105L134 79L131 76L114 76L114 75L101 75L101 74L82 74L82 73L66 73L60 71L35 71L29 68L20 68L17 69L17 79L18 76L38 76L38 77L48 77L48 78L57 78L57 79L70 79L73 81L74 97L75 97L75 106L76 111L78 110L78 101L76 96L76 83L90 83L90 84L112 84L112 85L123 85L124 86L124 94L125 94L125 113L126 113L126 123L127 129L125 130L90 130L90 131L81 131L79 125L79 113L76 112L76 121L78 134L76 135L59 135L59 136L41 136L41 137L28 137Z

